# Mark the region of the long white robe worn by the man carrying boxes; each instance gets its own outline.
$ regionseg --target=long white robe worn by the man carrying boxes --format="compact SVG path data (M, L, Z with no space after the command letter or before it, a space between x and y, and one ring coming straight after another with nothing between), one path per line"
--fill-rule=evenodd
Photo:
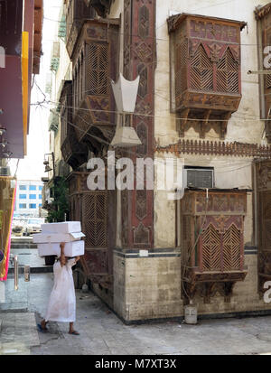
M54 284L51 291L45 321L75 322L76 298L71 267L74 259L65 266L58 261L53 265Z

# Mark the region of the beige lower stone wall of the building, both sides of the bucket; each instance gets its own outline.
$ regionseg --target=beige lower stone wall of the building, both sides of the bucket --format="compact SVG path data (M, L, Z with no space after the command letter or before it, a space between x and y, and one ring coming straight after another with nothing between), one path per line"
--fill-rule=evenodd
M210 303L193 299L198 314L270 310L257 293L257 255L246 255L248 275L233 288L229 303L216 294ZM114 310L126 322L182 317L181 259L175 257L124 258L114 255Z

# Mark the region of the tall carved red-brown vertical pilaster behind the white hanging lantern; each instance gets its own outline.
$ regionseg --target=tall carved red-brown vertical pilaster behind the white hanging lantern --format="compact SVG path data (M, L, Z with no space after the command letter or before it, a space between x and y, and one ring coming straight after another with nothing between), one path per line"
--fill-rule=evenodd
M154 115L155 1L125 0L124 5L124 75L132 80L140 74L135 112ZM154 158L154 119L135 116L133 126L143 144L135 148L133 161L136 156ZM122 195L123 247L153 247L153 191Z

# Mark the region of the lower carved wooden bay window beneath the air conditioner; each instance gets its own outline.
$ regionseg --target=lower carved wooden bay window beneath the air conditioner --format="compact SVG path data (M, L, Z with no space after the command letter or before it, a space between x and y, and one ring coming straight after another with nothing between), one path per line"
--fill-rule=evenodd
M183 295L192 298L199 292L209 302L220 288L228 302L233 284L247 275L243 238L247 192L209 191L206 200L204 191L185 191L181 203Z

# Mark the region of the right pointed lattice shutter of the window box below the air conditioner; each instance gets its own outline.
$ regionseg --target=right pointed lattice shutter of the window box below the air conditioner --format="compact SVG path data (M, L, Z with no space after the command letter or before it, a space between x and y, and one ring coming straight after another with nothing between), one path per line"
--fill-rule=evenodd
M223 234L223 269L240 268L240 231L231 225Z

